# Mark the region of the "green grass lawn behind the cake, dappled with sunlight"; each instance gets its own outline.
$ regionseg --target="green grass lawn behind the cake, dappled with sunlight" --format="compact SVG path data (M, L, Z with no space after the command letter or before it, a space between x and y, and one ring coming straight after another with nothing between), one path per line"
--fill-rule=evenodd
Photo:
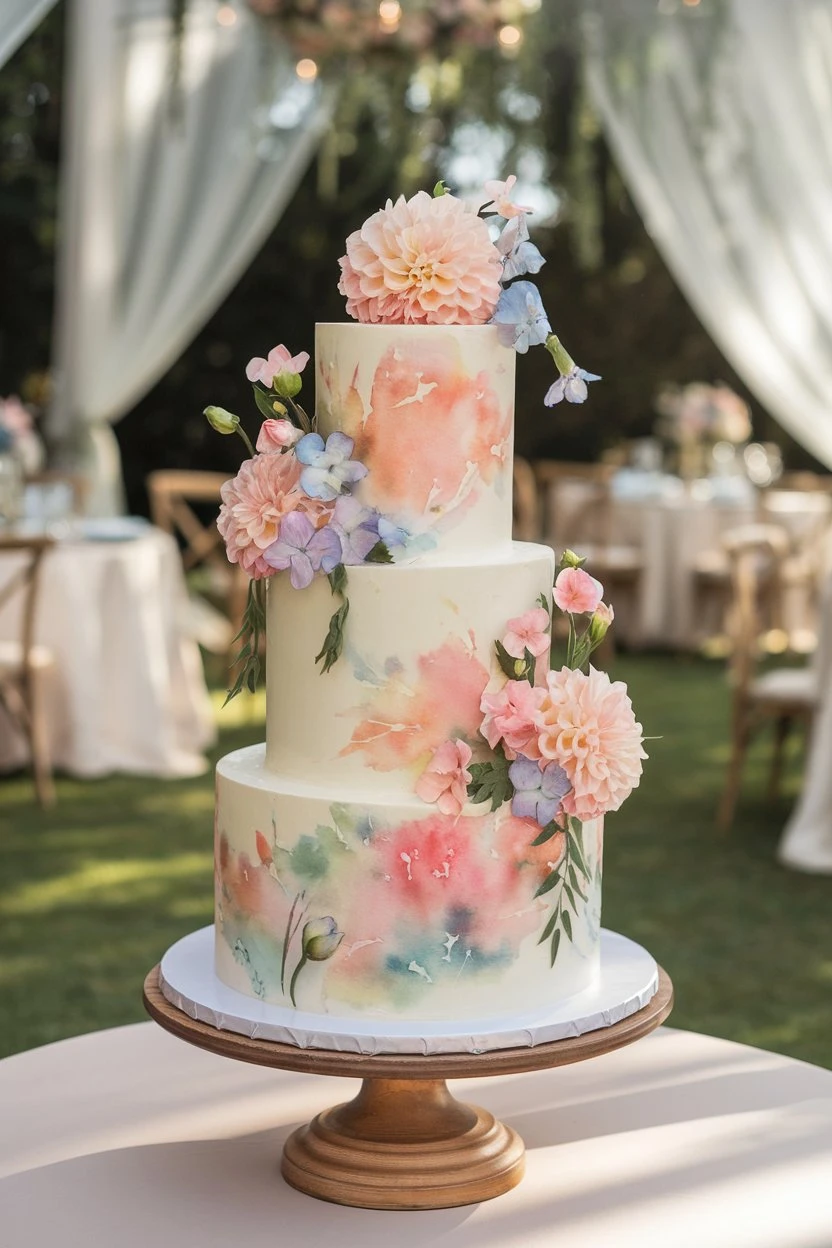
M765 799L750 760L733 831L713 811L727 756L720 664L627 658L650 736L642 787L607 821L604 920L646 945L676 986L672 1023L832 1068L832 879L775 864L800 782ZM216 755L262 739L262 700L220 719ZM59 779L40 811L0 780L0 1053L145 1017L146 971L212 919L211 775Z

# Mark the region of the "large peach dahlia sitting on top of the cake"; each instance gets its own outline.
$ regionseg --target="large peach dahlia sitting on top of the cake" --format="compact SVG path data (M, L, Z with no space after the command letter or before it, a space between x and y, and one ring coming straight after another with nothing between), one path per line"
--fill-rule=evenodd
M453 195L388 200L351 233L339 263L347 312L373 324L484 324L500 297L488 226Z

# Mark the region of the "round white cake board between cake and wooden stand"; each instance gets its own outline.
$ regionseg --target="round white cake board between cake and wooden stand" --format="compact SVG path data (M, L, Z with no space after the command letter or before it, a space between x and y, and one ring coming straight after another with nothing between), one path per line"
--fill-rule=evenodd
M641 945L601 931L601 970L591 987L556 1005L508 1018L464 1023L339 1018L273 1006L227 987L213 970L213 926L177 941L162 958L163 996L190 1018L252 1040L348 1053L484 1053L583 1036L644 1008L659 987L655 960Z

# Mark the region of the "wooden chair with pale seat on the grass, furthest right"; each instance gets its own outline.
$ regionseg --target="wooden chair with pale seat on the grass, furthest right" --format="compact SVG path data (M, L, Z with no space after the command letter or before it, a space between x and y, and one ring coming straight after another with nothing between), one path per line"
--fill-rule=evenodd
M731 584L731 758L717 824L727 830L733 820L753 733L761 724L773 723L768 796L776 797L788 733L796 720L811 719L818 690L815 671L808 666L756 674L766 630L782 626L781 572L788 557L788 534L776 525L743 525L725 534L723 549Z

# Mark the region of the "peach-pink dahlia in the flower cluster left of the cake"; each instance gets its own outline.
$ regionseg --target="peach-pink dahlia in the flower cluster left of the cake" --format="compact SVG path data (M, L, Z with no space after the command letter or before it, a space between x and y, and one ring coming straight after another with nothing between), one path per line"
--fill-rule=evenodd
M228 558L253 579L274 572L263 552L277 539L284 515L301 508L317 523L326 510L317 499L307 498L299 479L301 464L294 456L254 456L243 461L233 480L227 480L220 490L217 528Z

